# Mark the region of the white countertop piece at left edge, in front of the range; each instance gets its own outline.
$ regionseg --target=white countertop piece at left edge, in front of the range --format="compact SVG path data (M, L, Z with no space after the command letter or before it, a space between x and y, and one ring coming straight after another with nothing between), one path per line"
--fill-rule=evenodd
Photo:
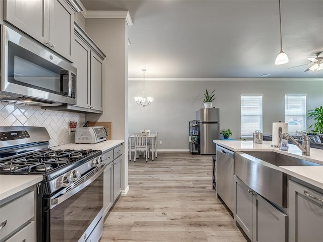
M0 175L0 200L42 181L42 175Z

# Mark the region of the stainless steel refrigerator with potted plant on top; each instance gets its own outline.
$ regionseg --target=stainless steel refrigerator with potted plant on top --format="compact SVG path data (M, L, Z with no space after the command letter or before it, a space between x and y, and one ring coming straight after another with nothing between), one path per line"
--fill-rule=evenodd
M200 154L216 154L213 140L220 140L220 109L201 108L196 111L196 119L200 122Z

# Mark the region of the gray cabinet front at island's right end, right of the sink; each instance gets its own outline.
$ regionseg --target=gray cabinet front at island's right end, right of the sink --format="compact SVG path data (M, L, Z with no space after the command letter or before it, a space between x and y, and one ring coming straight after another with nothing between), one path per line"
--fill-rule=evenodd
M288 182L289 241L323 241L323 194Z

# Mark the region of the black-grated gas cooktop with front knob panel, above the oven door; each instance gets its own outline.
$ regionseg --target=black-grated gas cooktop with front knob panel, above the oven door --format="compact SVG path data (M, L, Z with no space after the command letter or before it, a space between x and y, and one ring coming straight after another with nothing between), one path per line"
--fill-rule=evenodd
M103 161L100 150L44 149L0 161L0 174L43 175L43 194L68 187Z

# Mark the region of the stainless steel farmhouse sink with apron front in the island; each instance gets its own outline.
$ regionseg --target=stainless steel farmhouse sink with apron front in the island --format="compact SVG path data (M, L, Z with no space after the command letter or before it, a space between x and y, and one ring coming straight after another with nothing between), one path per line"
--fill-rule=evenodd
M287 175L278 170L282 165L320 164L276 152L236 152L235 175L249 188L282 208L287 207Z

